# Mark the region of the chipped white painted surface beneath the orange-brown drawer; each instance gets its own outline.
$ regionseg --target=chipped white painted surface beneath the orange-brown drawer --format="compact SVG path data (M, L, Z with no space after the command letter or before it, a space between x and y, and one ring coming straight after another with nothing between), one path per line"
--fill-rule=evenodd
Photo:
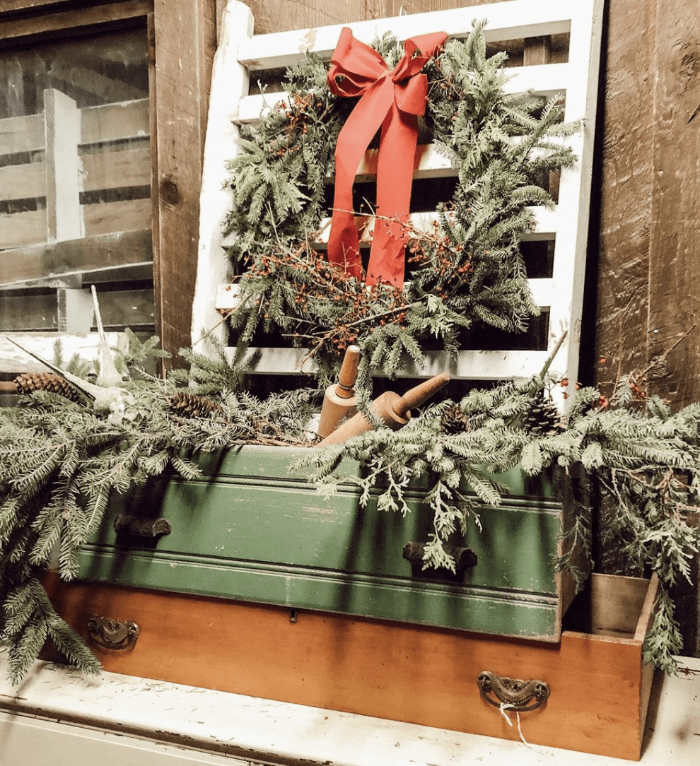
M684 671L657 679L652 692L642 764L698 764L700 660L679 659ZM0 658L2 766L629 762L116 673L90 679L51 663L37 663L21 686L10 686L5 668ZM527 738L527 717L521 722Z

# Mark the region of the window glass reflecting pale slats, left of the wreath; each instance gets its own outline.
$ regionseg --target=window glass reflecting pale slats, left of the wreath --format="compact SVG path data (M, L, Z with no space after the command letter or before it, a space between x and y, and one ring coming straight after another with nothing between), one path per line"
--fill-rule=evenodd
M0 41L0 331L153 326L149 133L145 23Z

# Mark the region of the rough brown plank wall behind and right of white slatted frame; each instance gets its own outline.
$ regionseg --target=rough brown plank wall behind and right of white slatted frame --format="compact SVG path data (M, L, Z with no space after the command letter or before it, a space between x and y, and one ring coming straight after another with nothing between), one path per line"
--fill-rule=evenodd
M248 0L256 32L491 0ZM403 11L402 11L403 9ZM606 0L600 151L582 376L637 370L675 406L700 399L700 26L697 0ZM485 12L485 15L488 13ZM700 322L698 322L700 323ZM602 360L605 360L604 362ZM698 581L698 566L695 566ZM677 594L700 655L698 591Z

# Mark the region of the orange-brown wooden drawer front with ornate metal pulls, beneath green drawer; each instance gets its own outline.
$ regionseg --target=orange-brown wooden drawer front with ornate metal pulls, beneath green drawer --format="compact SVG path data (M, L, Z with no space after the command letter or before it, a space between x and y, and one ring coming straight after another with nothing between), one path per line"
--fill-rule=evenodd
M560 645L97 584L51 588L86 633L90 614L140 625L106 669L461 732L518 738L481 699L482 670L542 679L527 741L639 758L639 643L564 633Z

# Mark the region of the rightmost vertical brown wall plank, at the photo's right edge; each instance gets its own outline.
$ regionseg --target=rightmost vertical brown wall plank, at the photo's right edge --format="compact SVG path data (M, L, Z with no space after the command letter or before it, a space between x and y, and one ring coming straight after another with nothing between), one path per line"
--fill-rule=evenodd
M649 250L649 363L654 389L700 400L700 332L665 352L697 321L700 281L700 21L695 2L657 5L658 77ZM669 300L672 296L672 300ZM662 361L663 360L663 361ZM658 368L655 362L658 361Z

